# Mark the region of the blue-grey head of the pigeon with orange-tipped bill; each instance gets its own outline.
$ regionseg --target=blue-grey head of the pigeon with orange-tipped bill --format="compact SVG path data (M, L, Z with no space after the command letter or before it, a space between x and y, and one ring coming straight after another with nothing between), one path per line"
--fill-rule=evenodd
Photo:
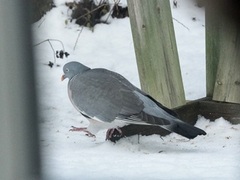
M63 66L63 72L62 75L62 81L66 78L72 79L77 74L82 74L83 72L89 70L90 68L87 66L84 66L83 64L79 62L69 62Z

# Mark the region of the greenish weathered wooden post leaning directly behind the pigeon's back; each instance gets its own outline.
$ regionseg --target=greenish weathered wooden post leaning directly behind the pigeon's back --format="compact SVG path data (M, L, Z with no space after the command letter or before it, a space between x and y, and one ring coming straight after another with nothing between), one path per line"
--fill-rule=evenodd
M128 0L143 91L169 108L185 104L170 3Z

